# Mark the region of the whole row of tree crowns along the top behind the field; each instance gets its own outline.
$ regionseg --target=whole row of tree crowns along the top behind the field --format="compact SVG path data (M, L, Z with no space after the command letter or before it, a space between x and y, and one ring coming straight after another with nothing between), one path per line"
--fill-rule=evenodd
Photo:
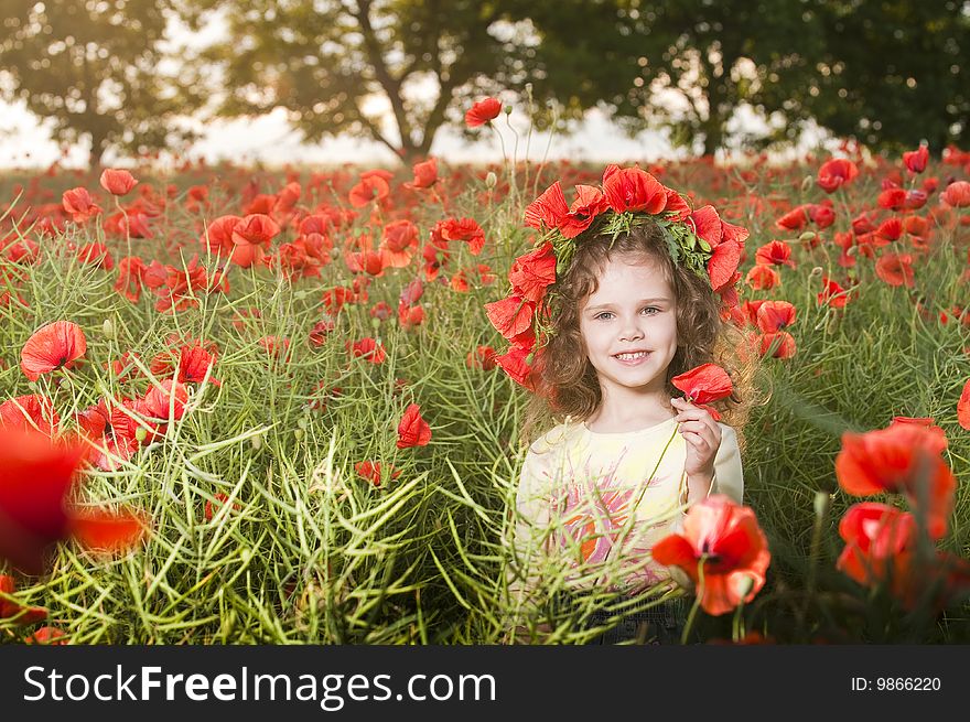
M629 132L667 129L705 153L809 121L875 148L935 150L968 132L970 0L8 0L0 93L87 136L144 151L184 121L283 108L313 142L352 134L427 157L474 100L534 101L541 129L601 107ZM224 23L172 57L168 23ZM165 64L171 72L163 73ZM181 125L180 125L181 123Z

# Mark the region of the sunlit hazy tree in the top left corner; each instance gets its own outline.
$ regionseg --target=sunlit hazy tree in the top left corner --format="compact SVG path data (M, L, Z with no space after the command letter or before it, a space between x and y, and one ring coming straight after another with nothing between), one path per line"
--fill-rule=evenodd
M144 153L193 133L174 119L197 94L160 73L168 0L6 0L0 94L53 120L58 142L90 140L90 164L110 147Z

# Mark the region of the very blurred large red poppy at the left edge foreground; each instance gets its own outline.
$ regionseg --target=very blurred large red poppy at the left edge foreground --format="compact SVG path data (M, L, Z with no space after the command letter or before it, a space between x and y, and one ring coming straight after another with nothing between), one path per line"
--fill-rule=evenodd
M0 559L29 574L60 541L115 551L136 543L144 520L132 513L82 510L68 497L86 449L80 442L0 428Z

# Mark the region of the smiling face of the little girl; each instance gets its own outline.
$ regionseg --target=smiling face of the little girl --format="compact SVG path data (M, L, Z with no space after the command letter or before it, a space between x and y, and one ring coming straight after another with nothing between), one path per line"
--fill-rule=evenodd
M580 332L604 396L611 389L665 394L677 353L677 302L656 262L607 260L580 306ZM630 355L633 354L633 355Z

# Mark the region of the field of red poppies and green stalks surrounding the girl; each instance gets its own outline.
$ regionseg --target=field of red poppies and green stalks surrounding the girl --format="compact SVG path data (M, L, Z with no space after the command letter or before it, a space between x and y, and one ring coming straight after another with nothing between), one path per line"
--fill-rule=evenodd
M970 152L928 150L639 164L750 231L747 508L709 520L765 581L714 599L750 550L687 524L703 642L970 640ZM0 179L0 640L588 640L591 607L508 593L528 391L486 304L525 207L602 176Z

